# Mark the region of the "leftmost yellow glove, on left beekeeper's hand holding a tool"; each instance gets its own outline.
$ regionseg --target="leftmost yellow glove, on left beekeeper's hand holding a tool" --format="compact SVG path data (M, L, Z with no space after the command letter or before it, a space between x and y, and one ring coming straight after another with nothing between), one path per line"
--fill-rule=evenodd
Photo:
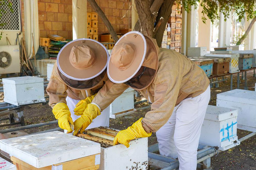
M66 129L68 133L73 132L70 124L74 124L68 106L65 103L57 103L53 107L53 114L58 119L58 124L61 129Z

